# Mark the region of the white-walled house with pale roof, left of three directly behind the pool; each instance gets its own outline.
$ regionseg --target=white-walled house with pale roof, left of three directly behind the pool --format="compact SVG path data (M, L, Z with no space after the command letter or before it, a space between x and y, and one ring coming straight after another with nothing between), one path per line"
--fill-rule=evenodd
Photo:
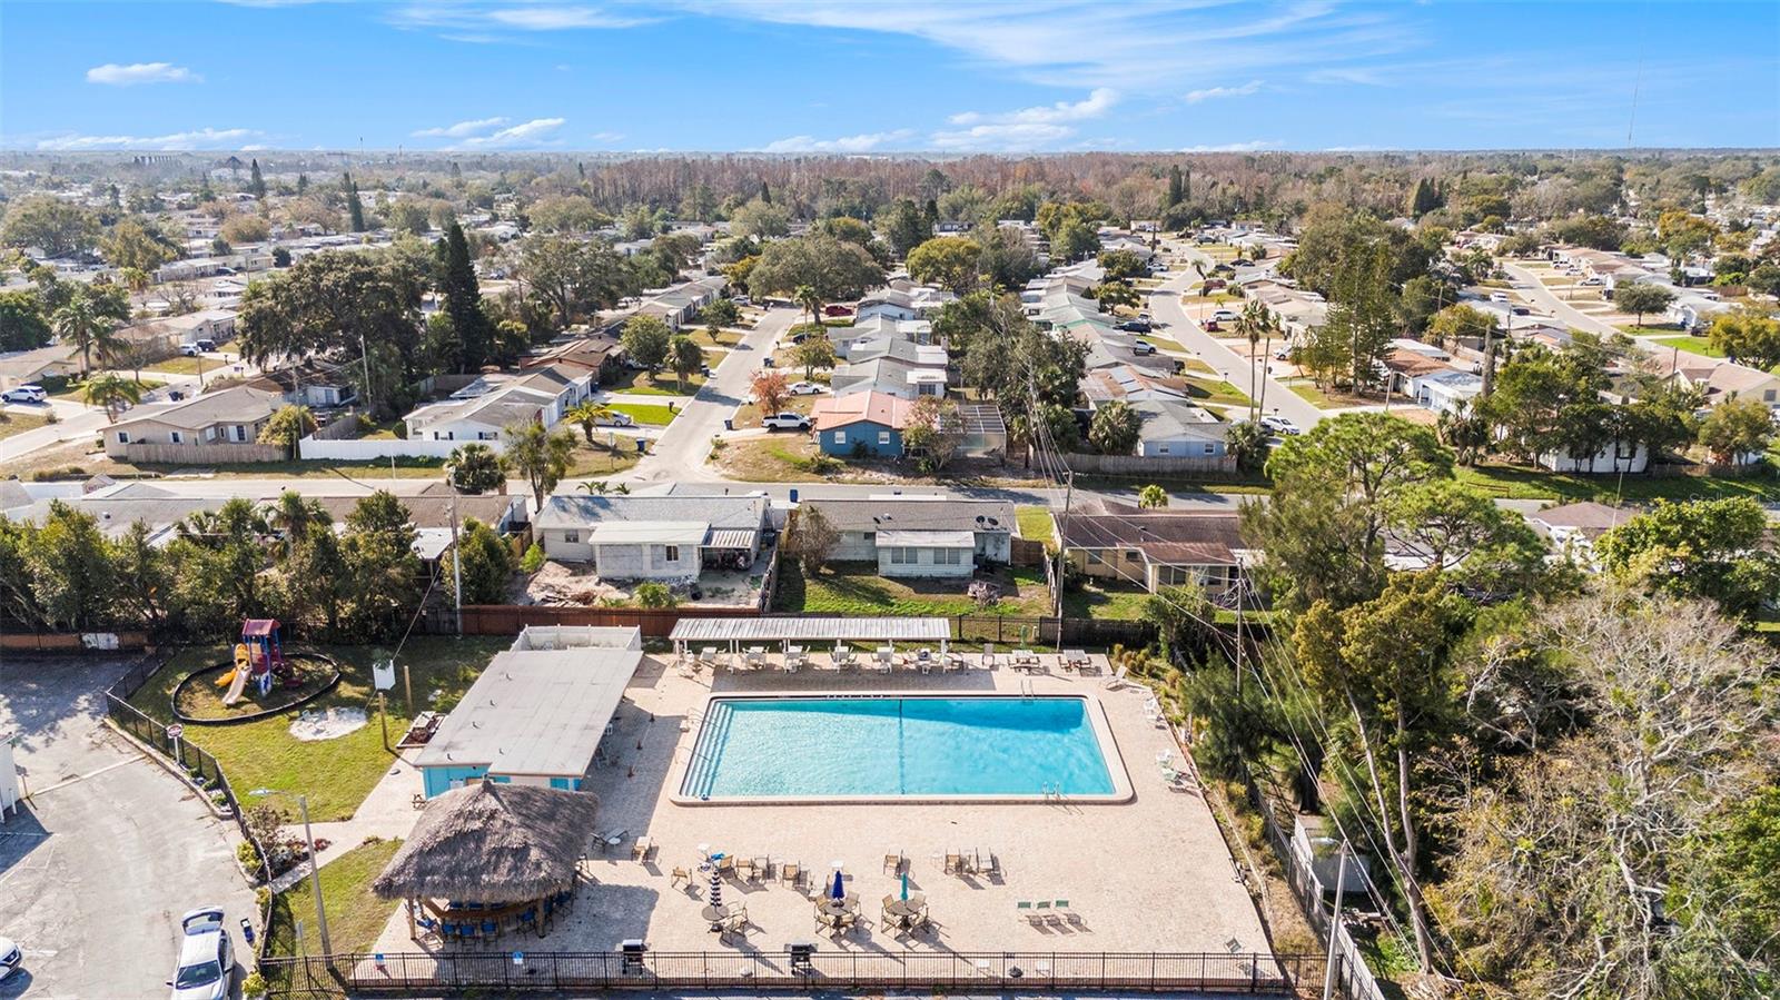
M532 528L545 555L602 578L691 584L707 566L751 566L771 507L765 495L552 496Z

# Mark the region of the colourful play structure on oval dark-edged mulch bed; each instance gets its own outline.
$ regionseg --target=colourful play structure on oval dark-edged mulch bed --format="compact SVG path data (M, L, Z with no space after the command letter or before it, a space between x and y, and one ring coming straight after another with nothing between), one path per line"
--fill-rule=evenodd
M278 621L242 623L233 657L192 671L173 689L173 715L196 726L267 719L306 705L340 683L333 657L285 649Z

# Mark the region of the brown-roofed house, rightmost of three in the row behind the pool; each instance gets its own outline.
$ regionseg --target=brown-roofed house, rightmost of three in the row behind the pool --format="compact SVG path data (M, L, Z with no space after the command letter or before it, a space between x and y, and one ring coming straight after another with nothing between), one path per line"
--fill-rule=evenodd
M1141 509L1102 500L1057 518L1064 559L1102 584L1234 587L1255 559L1237 514Z

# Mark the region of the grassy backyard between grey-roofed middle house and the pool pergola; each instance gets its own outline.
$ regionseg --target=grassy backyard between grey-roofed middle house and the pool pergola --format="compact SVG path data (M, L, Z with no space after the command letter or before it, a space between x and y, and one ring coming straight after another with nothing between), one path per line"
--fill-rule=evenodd
M890 580L876 562L829 562L817 578L806 578L796 559L780 562L773 610L842 616L951 617L958 614L1048 614L1050 591L1043 568L997 571L1002 600L979 609L965 594L970 578Z

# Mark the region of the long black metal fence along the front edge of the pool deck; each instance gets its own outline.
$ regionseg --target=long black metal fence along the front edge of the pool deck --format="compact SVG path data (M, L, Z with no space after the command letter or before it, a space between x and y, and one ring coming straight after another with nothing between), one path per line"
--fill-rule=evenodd
M267 959L274 995L436 991L899 989L1202 991L1290 996L1321 989L1317 954L1159 952L470 952ZM1342 977L1337 977L1339 980ZM1355 1000L1337 993L1342 1000Z

